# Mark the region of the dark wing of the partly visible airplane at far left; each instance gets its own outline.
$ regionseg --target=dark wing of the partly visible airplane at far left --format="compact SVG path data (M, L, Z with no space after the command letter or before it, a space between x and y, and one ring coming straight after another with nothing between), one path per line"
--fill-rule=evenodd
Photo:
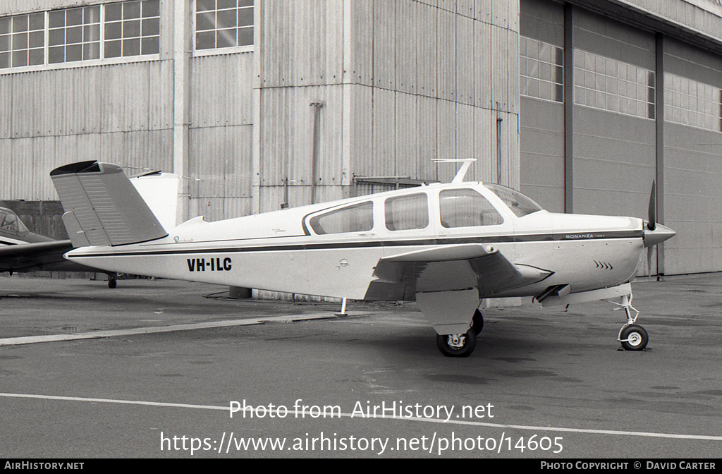
M95 272L64 259L63 254L73 249L70 241L36 242L0 247L0 272Z

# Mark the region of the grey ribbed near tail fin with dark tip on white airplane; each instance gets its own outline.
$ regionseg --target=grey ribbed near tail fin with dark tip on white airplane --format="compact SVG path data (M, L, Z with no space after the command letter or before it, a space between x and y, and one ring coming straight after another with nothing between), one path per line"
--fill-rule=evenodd
M118 165L84 161L50 173L74 247L118 246L168 236Z

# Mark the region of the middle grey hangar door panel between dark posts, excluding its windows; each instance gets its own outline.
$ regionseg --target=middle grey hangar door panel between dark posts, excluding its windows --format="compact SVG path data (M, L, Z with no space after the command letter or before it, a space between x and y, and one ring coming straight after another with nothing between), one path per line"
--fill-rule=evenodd
M575 48L654 71L654 35L582 10L574 20ZM647 217L655 170L654 116L575 105L574 212Z

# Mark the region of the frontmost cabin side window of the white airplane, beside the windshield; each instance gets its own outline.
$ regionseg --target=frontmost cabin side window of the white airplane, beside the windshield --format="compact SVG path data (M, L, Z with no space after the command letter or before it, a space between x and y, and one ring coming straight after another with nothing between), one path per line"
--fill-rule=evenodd
M499 225L504 218L474 189L448 189L439 193L441 225L445 228Z

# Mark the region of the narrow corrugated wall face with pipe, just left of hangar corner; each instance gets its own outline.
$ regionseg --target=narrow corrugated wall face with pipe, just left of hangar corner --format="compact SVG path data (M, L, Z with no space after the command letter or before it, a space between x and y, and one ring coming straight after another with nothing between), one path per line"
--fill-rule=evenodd
M279 209L286 193L292 207L311 202L316 116L311 103L322 104L316 200L343 195L343 29L344 1L261 3L261 212Z

